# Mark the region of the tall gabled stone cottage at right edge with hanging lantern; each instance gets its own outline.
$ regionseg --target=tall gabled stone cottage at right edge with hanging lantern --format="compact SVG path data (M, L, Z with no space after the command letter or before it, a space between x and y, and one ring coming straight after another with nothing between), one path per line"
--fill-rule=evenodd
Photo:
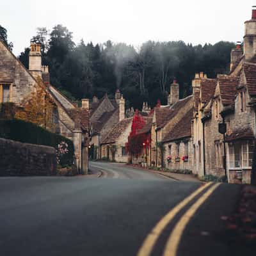
M251 182L255 141L256 10L244 25L243 50L240 44L232 49L230 74L220 74L214 81L201 79L198 88L194 86L199 91L199 104L193 120L193 172L227 175L229 182L236 183ZM220 133L221 127L226 131L224 135Z

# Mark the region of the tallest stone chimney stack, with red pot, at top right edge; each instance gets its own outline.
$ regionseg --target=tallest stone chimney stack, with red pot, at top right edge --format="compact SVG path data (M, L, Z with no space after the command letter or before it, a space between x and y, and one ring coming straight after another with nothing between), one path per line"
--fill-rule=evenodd
M252 6L252 19L244 22L244 56L250 60L256 53L256 6Z

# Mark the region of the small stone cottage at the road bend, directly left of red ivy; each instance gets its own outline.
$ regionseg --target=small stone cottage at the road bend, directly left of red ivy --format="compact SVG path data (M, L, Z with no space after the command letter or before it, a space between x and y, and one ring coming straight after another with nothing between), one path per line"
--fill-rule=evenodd
M131 132L132 118L125 118L118 122L100 143L102 158L110 161L127 163L128 154L125 143Z

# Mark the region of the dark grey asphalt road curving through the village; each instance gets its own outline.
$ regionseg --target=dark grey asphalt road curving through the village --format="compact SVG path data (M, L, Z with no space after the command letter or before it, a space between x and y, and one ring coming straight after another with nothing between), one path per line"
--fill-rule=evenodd
M101 178L1 177L0 255L137 255L159 220L202 188L122 164L91 166L103 170ZM166 221L158 236L151 233L156 241L148 255L166 253L175 225L184 224L182 216L208 188ZM234 211L239 191L228 184L214 189L189 219L174 255L234 255L221 216Z

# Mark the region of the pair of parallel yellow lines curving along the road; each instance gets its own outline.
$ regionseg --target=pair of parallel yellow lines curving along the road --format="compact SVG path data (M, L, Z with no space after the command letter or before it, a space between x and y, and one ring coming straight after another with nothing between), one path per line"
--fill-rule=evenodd
M208 188L212 185L212 182L209 182L205 184L204 186L196 189L191 195L186 197L184 200L182 200L178 205L176 205L168 214L166 214L158 223L157 225L151 230L150 234L146 237L145 241L143 242L138 255L137 256L150 256L152 253L152 250L154 248L154 245L157 242L157 239L161 235L161 232L163 232L164 228L170 223L170 221L173 220L173 218L176 216L176 214L193 198L195 198L196 195L200 194L204 189ZM173 228L173 231L168 238L168 241L166 243L166 246L164 248L164 256L176 256L177 255L177 249L179 246L180 239L182 237L182 233L184 231L184 228L188 224L189 220L195 214L196 210L202 205L207 198L213 193L213 191L220 186L220 183L214 184L211 188L209 188L200 198L193 204L188 211L185 212L185 214L180 218L180 220L177 222L175 227Z

